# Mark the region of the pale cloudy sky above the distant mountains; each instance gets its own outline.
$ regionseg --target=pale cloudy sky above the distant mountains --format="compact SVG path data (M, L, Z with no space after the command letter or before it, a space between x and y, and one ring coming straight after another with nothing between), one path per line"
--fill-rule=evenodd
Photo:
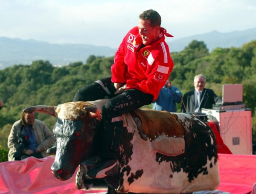
M0 37L117 48L149 8L168 41L256 28L256 0L0 0Z

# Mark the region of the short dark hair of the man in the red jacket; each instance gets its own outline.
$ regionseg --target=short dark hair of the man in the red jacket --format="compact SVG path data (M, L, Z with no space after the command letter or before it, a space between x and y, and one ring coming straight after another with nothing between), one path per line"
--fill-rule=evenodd
M139 18L141 20L150 20L151 27L161 26L161 16L158 14L157 11L154 11L153 9L148 9L146 11L143 11L142 14L140 14Z

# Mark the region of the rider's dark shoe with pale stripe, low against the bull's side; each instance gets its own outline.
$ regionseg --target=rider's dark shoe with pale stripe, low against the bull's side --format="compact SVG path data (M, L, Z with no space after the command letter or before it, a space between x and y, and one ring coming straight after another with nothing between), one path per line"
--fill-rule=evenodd
M118 166L116 160L113 159L100 161L93 169L90 169L86 173L91 179L101 179L116 174L118 174Z

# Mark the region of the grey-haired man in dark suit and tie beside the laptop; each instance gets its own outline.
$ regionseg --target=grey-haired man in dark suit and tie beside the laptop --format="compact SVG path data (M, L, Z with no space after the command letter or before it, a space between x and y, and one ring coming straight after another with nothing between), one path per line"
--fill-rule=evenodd
M205 83L204 75L195 76L195 89L184 94L181 112L201 112L202 108L212 109L212 104L222 101L213 90L204 88Z

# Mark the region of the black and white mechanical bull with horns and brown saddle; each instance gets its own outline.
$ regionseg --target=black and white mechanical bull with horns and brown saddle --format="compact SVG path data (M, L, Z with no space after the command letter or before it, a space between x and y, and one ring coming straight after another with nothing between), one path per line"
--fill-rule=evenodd
M57 179L69 179L83 161L95 155L105 103L78 101L24 110L58 117L53 128L57 152L51 167ZM104 178L116 192L180 194L218 187L215 136L204 122L188 114L149 109L126 113L123 122L119 174Z

